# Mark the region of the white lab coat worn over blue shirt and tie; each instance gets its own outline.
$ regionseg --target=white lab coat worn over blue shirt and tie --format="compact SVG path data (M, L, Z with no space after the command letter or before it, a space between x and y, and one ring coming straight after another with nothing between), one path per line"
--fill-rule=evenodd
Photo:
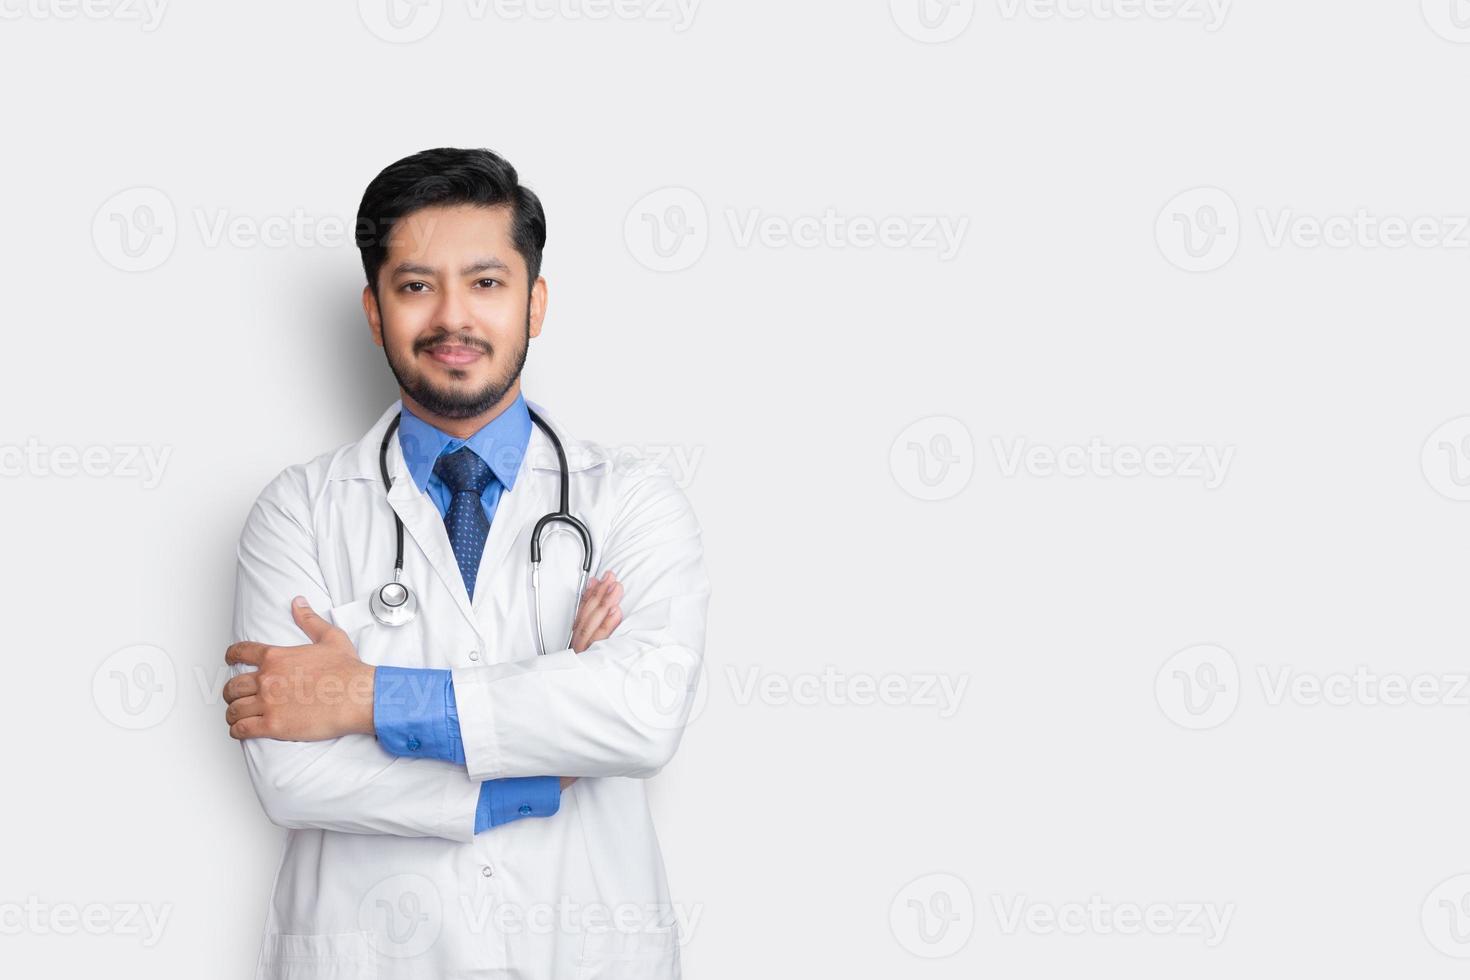
M698 679L709 604L700 526L667 472L572 439L528 404L566 447L591 574L612 569L623 583L622 623L582 654L566 646L581 547L548 529L548 652L537 655L529 541L559 497L539 426L500 498L473 604L397 436L384 494L378 448L398 403L359 442L282 470L245 520L234 639L306 644L290 610L304 595L365 663L453 669L467 763L398 758L366 735L241 742L260 805L288 829L257 979L679 977L644 779L678 748ZM406 529L404 582L419 598L400 627L368 610L392 573L392 511ZM556 814L476 835L479 783L501 776L579 779Z

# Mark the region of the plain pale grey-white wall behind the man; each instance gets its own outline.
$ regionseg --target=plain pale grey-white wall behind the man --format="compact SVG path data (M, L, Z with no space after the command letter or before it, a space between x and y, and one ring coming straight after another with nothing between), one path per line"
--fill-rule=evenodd
M218 696L234 545L397 389L350 239L210 231L340 232L485 145L548 213L528 397L697 458L709 702L651 785L688 977L1461 976L1470 4L626 3L406 40L366 0L0 0L0 911L168 914L6 912L0 970L251 976L282 832ZM1008 466L1092 439L1177 466ZM141 729L134 645L173 669ZM1175 924L1045 926L1089 899Z

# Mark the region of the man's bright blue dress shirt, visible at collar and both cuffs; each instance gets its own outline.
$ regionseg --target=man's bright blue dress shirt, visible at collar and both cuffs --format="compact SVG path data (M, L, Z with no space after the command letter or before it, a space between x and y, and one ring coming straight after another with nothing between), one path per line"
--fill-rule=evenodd
M520 458L531 444L531 413L520 395L467 439L441 432L403 408L398 413L398 445L415 485L429 495L441 517L450 508L453 492L434 475L434 461L465 445L473 450L495 475L481 494L485 519L494 522L501 491L514 488ZM372 720L378 743L394 755L465 764L454 682L448 670L378 667ZM560 805L559 776L485 780L479 785L475 833L520 817L550 817Z

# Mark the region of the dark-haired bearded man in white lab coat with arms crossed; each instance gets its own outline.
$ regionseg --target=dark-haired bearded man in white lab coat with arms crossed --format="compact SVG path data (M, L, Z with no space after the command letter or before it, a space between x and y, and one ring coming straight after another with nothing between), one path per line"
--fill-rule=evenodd
M679 977L644 788L703 658L698 522L669 473L614 467L522 397L545 219L506 160L398 160L357 244L401 397L272 479L238 545L225 721L288 830L256 976ZM592 579L579 589L582 541L550 525L542 651L531 535L563 479ZM390 626L369 599L394 576L395 516L417 611Z

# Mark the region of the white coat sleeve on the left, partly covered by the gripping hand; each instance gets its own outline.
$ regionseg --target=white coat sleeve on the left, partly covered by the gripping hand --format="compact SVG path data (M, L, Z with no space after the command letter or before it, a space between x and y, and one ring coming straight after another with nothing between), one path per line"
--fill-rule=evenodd
M316 560L304 472L282 470L256 500L237 548L232 642L300 646L291 597L332 605ZM234 664L231 674L254 670ZM243 739L245 768L279 827L473 839L479 782L431 758L398 758L369 735L322 742ZM542 770L545 771L545 770Z

